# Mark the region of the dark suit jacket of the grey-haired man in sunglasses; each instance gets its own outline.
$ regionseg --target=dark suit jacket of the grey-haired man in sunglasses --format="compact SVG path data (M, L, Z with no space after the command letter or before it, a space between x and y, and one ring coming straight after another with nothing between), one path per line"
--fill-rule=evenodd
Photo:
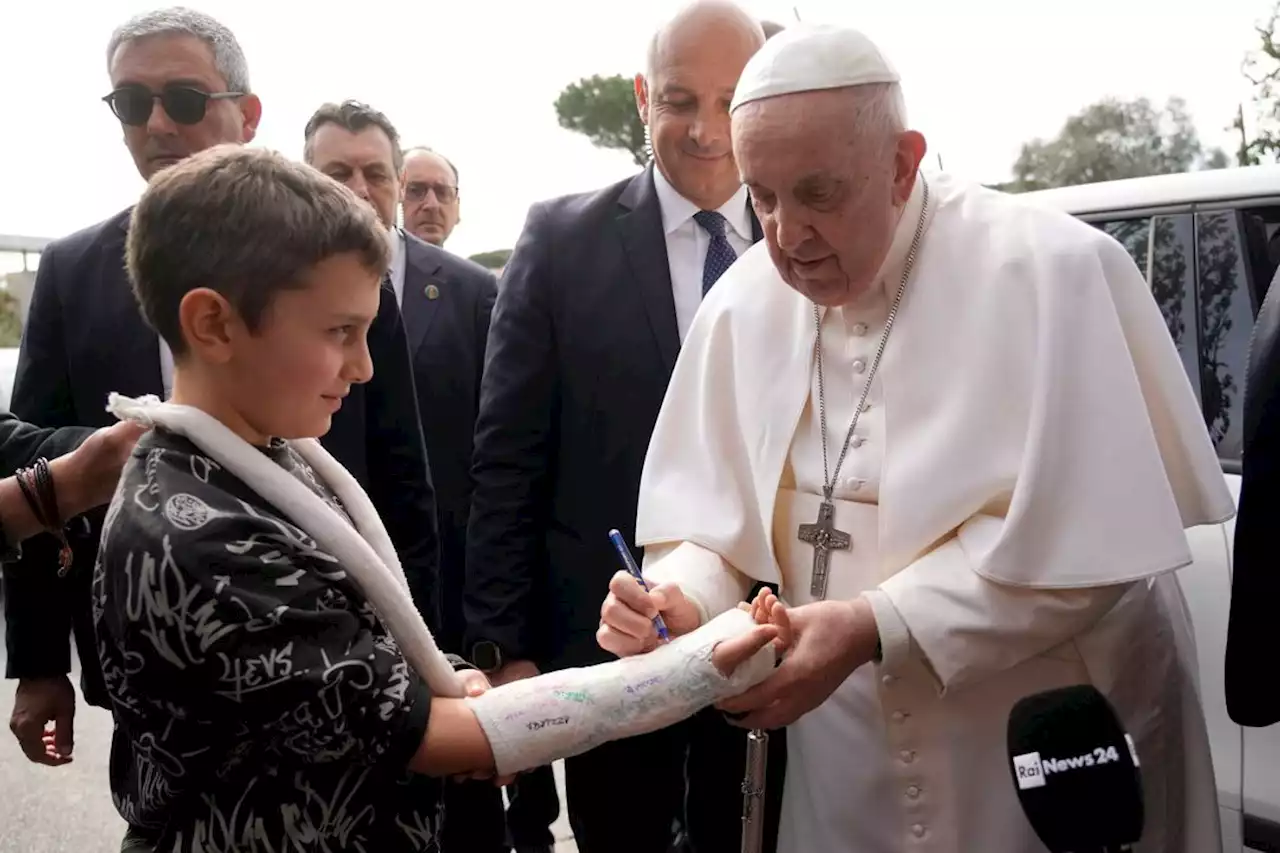
M45 426L104 426L111 391L163 396L159 339L142 319L124 269L125 210L49 245L40 259L14 378L15 415ZM434 596L439 543L435 497L415 402L404 327L384 288L369 332L374 378L352 388L324 437L325 447L369 491L420 598ZM54 551L24 546L5 569L8 678L70 670L74 630L84 695L101 703L88 585L101 511L76 537L65 579L47 571ZM44 569L44 570L38 570Z

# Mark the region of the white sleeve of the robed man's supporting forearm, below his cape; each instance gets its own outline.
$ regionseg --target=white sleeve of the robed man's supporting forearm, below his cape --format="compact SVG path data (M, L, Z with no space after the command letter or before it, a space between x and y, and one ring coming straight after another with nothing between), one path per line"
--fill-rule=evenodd
M1033 589L995 583L973 570L952 539L864 596L876 613L884 665L892 669L915 654L945 692L1088 630L1130 585Z

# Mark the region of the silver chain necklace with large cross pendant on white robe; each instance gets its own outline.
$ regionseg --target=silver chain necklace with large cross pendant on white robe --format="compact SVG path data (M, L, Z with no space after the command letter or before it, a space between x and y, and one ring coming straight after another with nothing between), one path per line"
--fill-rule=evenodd
M845 530L836 529L836 506L832 502L832 494L836 491L836 480L840 476L840 469L845 465L845 457L849 455L849 444L854 439L854 430L858 429L858 419L863 414L863 409L867 405L867 394L870 393L872 380L876 378L876 371L879 369L881 357L884 355L884 347L888 343L888 333L893 329L893 320L897 318L897 309L902 304L902 293L906 292L906 282L911 278L911 270L915 266L915 256L920 250L920 240L924 237L924 223L929 215L929 183L920 175L920 182L924 184L924 202L920 206L920 218L915 223L915 236L911 238L911 247L906 252L906 264L902 266L902 278L897 284L897 295L893 297L893 304L890 306L888 316L884 320L884 332L881 334L879 346L876 348L876 357L872 360L872 366L867 373L867 383L863 386L863 393L858 398L858 405L854 407L854 419L849 424L849 430L845 433L845 442L840 448L840 456L836 457L836 470L831 471L831 466L827 457L827 387L826 377L822 370L822 310L817 304L813 306L813 321L818 329L818 337L814 341L814 361L818 365L818 421L822 426L822 503L818 507L818 519L813 524L801 524L797 530L800 540L813 546L813 579L809 585L809 594L813 598L826 598L827 596L827 575L831 569L831 552L844 551L851 544L849 533Z

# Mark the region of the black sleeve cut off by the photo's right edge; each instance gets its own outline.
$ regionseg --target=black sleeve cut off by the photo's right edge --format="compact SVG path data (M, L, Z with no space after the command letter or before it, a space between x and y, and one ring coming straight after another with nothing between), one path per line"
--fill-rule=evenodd
M1280 690L1260 661L1275 660L1280 602L1275 520L1280 507L1280 274L1258 310L1244 389L1244 473L1226 629L1226 711L1244 726L1280 722Z

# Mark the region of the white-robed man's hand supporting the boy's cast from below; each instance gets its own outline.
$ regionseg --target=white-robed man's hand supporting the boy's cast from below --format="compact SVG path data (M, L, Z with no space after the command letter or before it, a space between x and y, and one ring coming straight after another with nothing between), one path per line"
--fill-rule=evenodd
M759 621L759 620L758 620ZM719 703L744 729L788 726L827 701L854 670L876 654L876 617L864 599L773 607L771 621L790 651L773 675Z

